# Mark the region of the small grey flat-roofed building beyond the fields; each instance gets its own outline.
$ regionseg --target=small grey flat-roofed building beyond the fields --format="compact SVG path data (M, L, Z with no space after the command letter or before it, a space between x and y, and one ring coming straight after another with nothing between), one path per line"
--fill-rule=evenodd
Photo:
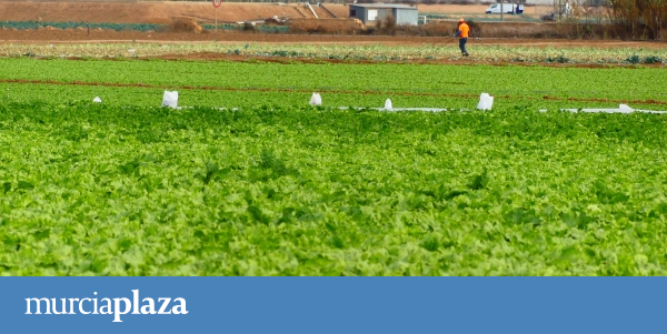
M365 26L376 26L389 17L397 26L417 26L417 8L395 3L350 3L350 19L359 19Z

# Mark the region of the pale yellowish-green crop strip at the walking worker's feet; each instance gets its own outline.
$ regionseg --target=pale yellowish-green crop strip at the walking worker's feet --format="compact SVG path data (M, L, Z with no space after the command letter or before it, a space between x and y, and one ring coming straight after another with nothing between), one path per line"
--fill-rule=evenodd
M667 62L667 49L637 48L567 48L567 47L521 47L494 45L485 40L470 40L471 57L468 61L480 63L525 62L525 63L591 63L591 64L660 64ZM347 61L411 61L411 60L457 60L460 52L456 43L425 44L418 47L388 45L275 45L261 43L206 43L206 44L3 44L0 55L32 55L58 58L133 58L159 57L165 54L191 54L199 52L227 53L246 57L283 57L286 59L334 59Z

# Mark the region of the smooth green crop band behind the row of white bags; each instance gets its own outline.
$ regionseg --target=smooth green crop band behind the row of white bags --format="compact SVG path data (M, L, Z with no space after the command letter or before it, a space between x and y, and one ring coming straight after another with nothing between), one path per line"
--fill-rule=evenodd
M474 108L481 92L497 103L660 109L663 69L419 64L276 64L210 61L71 61L0 59L2 97L49 103L100 97L104 103L159 105L165 90L180 105L303 105L319 92L325 107ZM651 105L654 104L654 105Z

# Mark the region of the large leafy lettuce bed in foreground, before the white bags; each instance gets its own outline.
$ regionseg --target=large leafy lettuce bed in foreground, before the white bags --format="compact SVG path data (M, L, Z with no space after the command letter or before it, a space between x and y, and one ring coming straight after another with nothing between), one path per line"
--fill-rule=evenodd
M12 275L664 275L667 119L0 104Z

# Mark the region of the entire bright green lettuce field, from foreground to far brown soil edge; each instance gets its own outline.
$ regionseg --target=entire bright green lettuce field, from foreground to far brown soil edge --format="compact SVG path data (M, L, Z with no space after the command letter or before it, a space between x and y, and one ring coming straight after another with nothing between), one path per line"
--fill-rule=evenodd
M667 274L664 67L0 67L3 275Z

